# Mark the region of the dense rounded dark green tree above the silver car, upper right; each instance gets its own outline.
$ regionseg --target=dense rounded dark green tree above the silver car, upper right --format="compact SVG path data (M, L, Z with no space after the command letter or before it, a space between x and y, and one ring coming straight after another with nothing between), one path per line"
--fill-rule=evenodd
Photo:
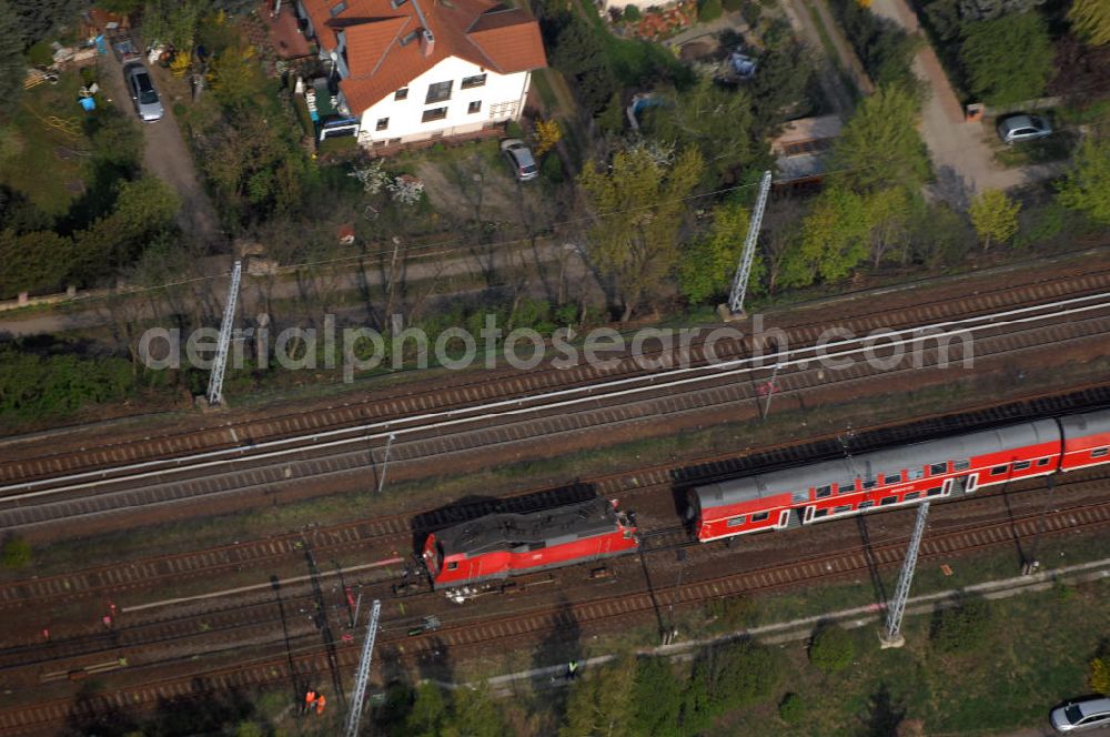
M966 23L960 59L971 93L991 105L1039 97L1052 74L1052 43L1036 11Z

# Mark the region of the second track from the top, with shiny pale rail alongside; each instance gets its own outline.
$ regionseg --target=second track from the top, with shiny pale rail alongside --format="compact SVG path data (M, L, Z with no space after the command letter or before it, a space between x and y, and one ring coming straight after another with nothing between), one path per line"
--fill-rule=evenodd
M793 349L767 360L735 359L713 366L669 368L648 376L561 388L493 404L423 413L307 437L249 447L208 451L190 458L142 462L0 487L0 526L57 528L90 517L120 515L151 506L259 493L309 482L370 485L380 442L395 436L391 468L404 472L428 460L460 458L543 445L553 440L655 423L679 427L707 413L748 413L774 373L775 395L788 398L824 391L829 384L875 391L877 378L940 370L959 362L967 346L931 347L932 341L975 337L976 360L989 362L1023 352L1056 351L1100 341L1110 332L1110 293L1071 297L1047 305L1006 310L958 321L901 329L885 341L890 350L914 350L915 360L887 367L885 349L867 340ZM924 333L930 333L924 337ZM919 346L924 345L924 349ZM871 360L864 361L869 356ZM830 360L851 362L830 368ZM774 363L774 371L767 367ZM915 374L920 376L920 374ZM648 428L650 430L650 428ZM468 454L468 455L467 455ZM484 457L484 456L483 456ZM167 465L170 464L170 465Z

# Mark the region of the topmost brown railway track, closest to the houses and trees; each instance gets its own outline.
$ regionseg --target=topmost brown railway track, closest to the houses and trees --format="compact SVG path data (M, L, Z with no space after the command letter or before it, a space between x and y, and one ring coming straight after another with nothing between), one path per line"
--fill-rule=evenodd
M1110 267L1092 265L1082 274L1049 282L1033 281L1007 283L1000 287L977 290L973 294L958 299L944 297L922 301L912 309L878 309L861 314L848 315L841 326L866 333L872 330L906 327L915 324L941 322L956 317L970 317L1008 309L1047 303L1069 297L1094 294L1110 289ZM804 309L805 305L798 305ZM791 324L789 315L775 329L781 329L790 345L813 344L821 331L828 326L823 314L818 320ZM723 342L719 354L723 359L750 355L753 341ZM658 359L662 349L648 346L644 355ZM690 365L705 362L705 354L695 344L690 352ZM143 461L163 461L194 455L203 451L235 450L249 447L275 438L303 437L349 426L364 425L371 421L387 421L415 416L427 412L464 408L513 397L542 394L558 387L575 387L604 380L644 375L630 356L609 366L579 365L555 371L542 365L533 371L495 371L480 376L448 374L440 377L446 384L434 392L420 388L404 388L389 393L374 393L365 400L345 403L311 414L285 414L266 418L232 421L218 427L190 432L161 432L160 434L129 438L120 442L98 438L91 447L58 448L51 443L44 453L36 453L7 463L0 463L0 485L11 486L19 482L37 478L64 476L80 471L111 468ZM167 463L165 465L172 465Z

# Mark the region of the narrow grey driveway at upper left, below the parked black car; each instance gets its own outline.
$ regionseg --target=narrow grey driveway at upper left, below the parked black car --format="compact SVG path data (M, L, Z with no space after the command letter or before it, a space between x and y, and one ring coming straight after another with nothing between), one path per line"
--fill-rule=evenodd
M134 114L119 60L112 53L108 53L100 57L100 61L103 70L101 82L105 87L109 101L125 114ZM143 168L178 193L181 199L181 210L178 211L178 224L181 230L208 246L210 251L223 251L226 236L220 231L215 208L201 186L193 158L181 138L181 129L173 118L173 101L163 98L162 107L165 109L162 120L142 127L147 143L143 151Z

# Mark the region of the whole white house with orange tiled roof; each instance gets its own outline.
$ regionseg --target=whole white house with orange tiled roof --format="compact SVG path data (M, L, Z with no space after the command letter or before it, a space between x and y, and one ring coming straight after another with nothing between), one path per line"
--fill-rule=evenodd
M539 26L494 0L297 0L339 75L334 121L367 148L458 135L517 120ZM351 120L353 119L353 120ZM325 129L326 133L326 129Z

